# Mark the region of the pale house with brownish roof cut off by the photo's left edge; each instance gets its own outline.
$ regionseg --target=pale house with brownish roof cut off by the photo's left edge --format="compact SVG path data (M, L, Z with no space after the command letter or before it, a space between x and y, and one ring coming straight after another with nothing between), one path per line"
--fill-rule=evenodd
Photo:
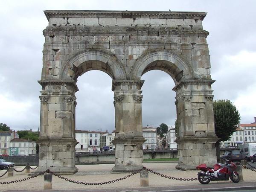
M19 134L15 131L0 131L0 154L8 154L10 148L10 140L19 138Z

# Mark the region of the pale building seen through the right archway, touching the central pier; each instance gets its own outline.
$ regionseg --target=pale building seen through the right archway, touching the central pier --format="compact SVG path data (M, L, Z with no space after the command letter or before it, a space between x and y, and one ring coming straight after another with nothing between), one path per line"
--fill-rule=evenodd
M146 140L143 143L143 149L155 149L157 148L157 128L143 127L142 128L143 137Z

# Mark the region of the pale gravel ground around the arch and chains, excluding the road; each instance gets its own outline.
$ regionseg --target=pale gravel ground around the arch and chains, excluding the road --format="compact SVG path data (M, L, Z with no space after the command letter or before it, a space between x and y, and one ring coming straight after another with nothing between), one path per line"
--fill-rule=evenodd
M180 171L175 169L177 163L144 163L146 168L159 172L160 174L172 176L172 177L181 177L181 178L195 178L197 177L196 173L198 171ZM82 181L82 182L105 182L109 180L116 180L117 178L124 177L128 174L119 173L119 174L110 174L111 169L114 164L101 164L101 165L77 165L79 172L75 175L64 175L68 179ZM24 167L15 167L17 170L22 170ZM5 171L0 171L2 175ZM170 180L168 178L160 177L152 173L148 174L149 176L149 186L179 186L179 185L193 185L198 184L196 181L180 181L180 180ZM0 177L0 182L7 182L12 180L19 180L28 177L25 172L17 173L14 172L14 177L7 177L7 174L3 177ZM256 172L243 169L244 181L256 181ZM218 181L218 183L232 183L232 181ZM216 183L216 181L212 182ZM140 173L131 176L125 180L121 180L116 183L111 183L107 185L99 186L84 186L81 184L70 183L65 180L61 180L58 177L52 177L52 189L61 190L61 189L111 189L111 188L136 188L140 187ZM6 190L41 190L44 189L44 177L38 176L30 180L0 185L0 191Z

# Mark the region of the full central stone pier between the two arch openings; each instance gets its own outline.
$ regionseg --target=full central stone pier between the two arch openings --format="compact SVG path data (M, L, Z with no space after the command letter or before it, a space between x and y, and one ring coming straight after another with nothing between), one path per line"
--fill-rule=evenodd
M115 106L116 165L112 172L127 172L143 167L141 86L144 81L112 81Z

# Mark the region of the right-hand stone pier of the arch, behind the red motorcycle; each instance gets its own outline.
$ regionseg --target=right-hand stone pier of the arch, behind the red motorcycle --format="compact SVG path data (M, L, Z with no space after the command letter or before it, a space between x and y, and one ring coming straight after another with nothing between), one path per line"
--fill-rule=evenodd
M216 163L212 80L181 81L176 91L179 164L177 169L195 169L201 163Z

